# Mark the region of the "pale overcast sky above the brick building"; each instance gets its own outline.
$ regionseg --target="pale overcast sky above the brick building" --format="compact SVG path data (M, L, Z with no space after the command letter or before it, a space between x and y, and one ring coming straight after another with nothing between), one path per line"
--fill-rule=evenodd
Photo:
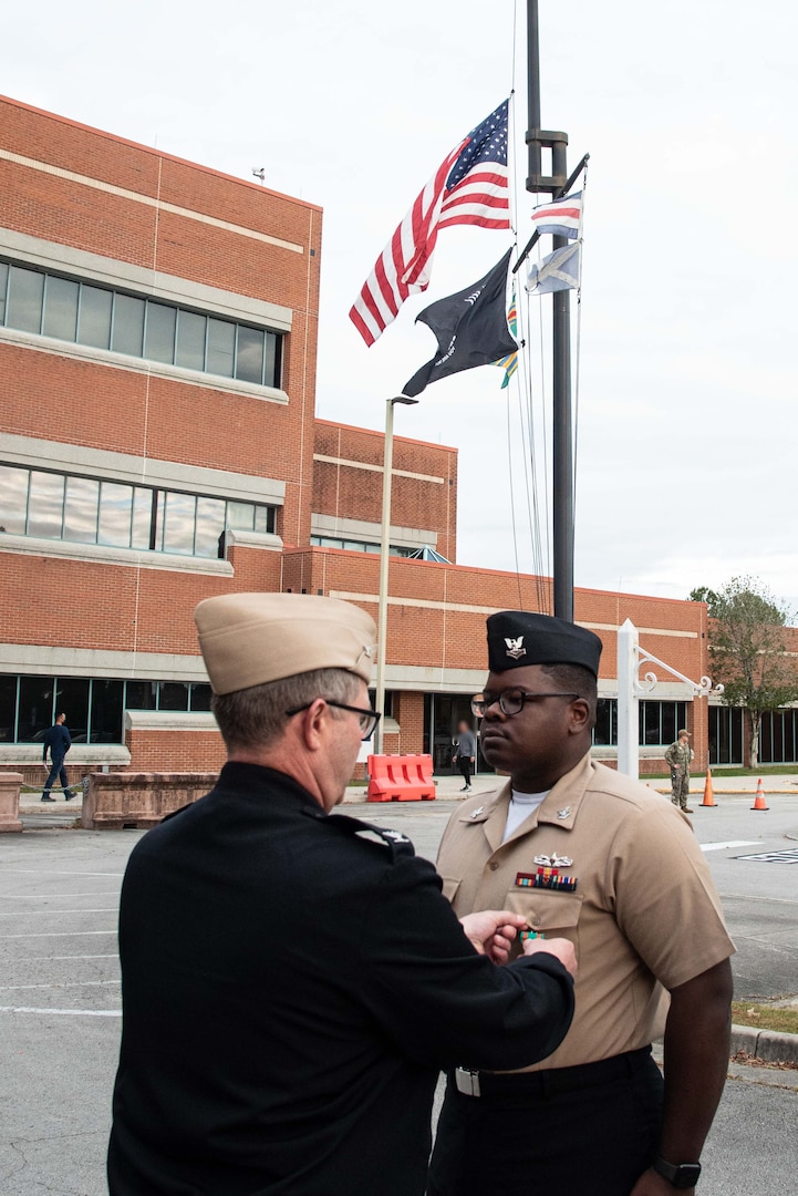
M753 573L798 606L798 10L540 8L544 127L569 133L571 164L591 154L577 584L681 598ZM508 94L512 25L512 0L39 0L4 14L0 91L247 179L264 166L266 185L320 203L318 413L381 428L385 399L432 354L415 315L479 279L510 234L443 232L429 291L372 349L348 311L426 178ZM542 444L538 324L532 342ZM499 385L490 367L436 383L397 431L460 450L460 563L511 569L517 548L529 569L518 398L508 426Z

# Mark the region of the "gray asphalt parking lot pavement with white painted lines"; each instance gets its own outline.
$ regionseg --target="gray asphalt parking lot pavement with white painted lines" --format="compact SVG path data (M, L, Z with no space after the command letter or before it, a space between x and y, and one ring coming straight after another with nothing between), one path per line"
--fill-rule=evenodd
M798 993L798 865L739 859L796 846L786 836L798 835L798 795L774 798L768 812L749 806L749 798L724 799L693 822L739 947L738 990ZM456 808L454 797L442 797L346 812L405 831L434 859ZM74 818L72 804L26 813L22 835L0 837L0 1196L106 1191L121 1027L118 891L142 832L57 829L59 817ZM726 1087L701 1191L785 1196L796 1190L788 1143L798 1137L798 1072L737 1072L743 1079Z

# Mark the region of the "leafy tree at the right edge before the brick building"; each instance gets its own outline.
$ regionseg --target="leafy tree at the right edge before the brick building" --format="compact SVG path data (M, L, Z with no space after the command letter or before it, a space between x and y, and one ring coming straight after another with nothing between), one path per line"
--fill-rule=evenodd
M707 604L712 681L723 684L726 706L745 709L750 767L756 768L762 715L798 701L786 631L792 612L750 576L732 578L717 592L698 586L690 599Z

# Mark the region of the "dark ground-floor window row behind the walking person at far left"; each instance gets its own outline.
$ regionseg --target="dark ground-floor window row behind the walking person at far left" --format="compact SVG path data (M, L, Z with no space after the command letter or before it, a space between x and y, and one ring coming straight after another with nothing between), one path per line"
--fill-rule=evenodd
M56 714L76 744L124 743L127 710L209 710L210 685L180 681L0 676L0 743L41 743Z

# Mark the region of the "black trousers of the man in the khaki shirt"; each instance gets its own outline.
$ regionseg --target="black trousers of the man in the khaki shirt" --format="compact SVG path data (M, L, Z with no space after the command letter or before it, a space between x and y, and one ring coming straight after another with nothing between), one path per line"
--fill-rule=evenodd
M657 1153L663 1081L647 1048L480 1082L469 1097L449 1078L428 1196L630 1196Z

